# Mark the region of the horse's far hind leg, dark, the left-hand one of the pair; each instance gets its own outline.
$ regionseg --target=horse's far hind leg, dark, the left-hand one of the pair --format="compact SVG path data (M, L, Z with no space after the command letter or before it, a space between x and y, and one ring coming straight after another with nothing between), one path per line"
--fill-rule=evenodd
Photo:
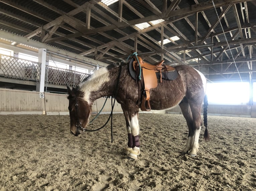
M184 118L186 119L187 126L188 126L188 138L187 138L186 147L181 151L181 154L186 154L192 148L195 129L193 126L193 116L192 116L191 109L186 97L182 99L182 101L179 103L179 106Z

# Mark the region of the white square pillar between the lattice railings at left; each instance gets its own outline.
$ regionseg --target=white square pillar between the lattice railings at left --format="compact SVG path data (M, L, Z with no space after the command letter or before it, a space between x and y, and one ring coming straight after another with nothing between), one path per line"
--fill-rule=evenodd
M40 48L38 49L38 62L41 63L40 69L40 82L39 87L36 87L37 92L44 92L44 81L45 81L45 65L46 65L46 49Z

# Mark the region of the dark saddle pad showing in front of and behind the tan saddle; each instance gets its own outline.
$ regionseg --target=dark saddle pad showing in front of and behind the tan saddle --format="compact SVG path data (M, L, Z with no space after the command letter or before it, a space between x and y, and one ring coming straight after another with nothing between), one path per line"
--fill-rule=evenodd
M129 72L131 77L136 80L136 72L133 69L133 61L135 61L134 58L131 59L129 63ZM178 76L177 70L174 71L167 71L167 72L162 72L162 79L164 80L175 80ZM156 78L160 79L160 72L156 72Z

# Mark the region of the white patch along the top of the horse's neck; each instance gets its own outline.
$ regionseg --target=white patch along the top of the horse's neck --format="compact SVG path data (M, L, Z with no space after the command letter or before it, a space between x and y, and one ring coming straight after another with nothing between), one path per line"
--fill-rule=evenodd
M79 87L81 91L84 92L84 100L87 101L89 104L90 102L90 94L91 92L97 91L101 88L101 86L110 80L109 72L107 68L101 68L97 70L95 73L90 75L88 79L82 82Z

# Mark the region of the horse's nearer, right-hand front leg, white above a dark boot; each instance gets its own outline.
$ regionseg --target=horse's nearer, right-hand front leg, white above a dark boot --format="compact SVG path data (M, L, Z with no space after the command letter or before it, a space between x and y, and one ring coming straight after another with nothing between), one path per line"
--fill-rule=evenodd
M128 154L128 157L137 159L140 154L140 143L139 143L139 113L129 114L130 118L130 129L132 137L132 150Z

